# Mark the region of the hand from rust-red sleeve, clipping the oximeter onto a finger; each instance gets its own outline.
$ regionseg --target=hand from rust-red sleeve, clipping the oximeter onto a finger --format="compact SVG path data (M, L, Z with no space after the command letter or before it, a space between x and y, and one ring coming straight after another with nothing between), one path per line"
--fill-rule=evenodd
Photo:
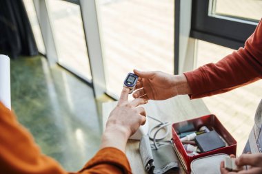
M140 72L134 69L139 76L134 98L150 100L165 100L179 94L191 94L191 89L184 75L174 76L164 72Z

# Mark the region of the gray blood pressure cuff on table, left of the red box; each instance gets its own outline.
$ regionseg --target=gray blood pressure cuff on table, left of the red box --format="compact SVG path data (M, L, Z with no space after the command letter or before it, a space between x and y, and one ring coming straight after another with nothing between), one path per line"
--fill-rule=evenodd
M179 171L179 160L171 141L159 142L156 149L150 144L148 135L144 135L140 140L139 151L147 173L161 174Z

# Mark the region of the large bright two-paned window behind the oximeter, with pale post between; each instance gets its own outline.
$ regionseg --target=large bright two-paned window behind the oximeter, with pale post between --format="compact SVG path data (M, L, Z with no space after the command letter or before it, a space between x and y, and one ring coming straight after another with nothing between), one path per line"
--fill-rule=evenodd
M34 0L34 5L50 65L59 63L87 80L96 96L118 98L133 69L174 74L174 0Z

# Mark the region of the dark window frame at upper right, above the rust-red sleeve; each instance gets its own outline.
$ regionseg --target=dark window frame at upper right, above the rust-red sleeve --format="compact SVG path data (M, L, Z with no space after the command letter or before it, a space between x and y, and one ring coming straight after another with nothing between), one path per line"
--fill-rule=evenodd
M213 14L215 3L216 0L192 1L190 36L235 50L243 47L258 22Z

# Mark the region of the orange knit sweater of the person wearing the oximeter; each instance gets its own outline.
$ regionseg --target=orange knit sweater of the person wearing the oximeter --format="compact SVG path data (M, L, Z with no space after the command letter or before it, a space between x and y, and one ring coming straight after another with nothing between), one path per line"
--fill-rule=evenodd
M43 155L32 135L17 122L14 113L0 102L0 173L62 174L51 157ZM131 173L125 154L112 147L101 149L77 173Z

